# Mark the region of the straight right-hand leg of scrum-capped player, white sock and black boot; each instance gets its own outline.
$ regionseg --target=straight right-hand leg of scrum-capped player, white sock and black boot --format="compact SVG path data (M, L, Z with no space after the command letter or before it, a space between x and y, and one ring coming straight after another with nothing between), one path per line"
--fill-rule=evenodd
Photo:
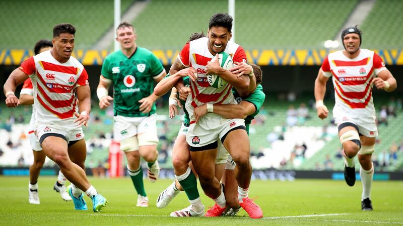
M358 160L360 162L360 177L362 181L362 195L361 195L361 209L373 210L371 201L371 187L372 179L374 176L374 167L372 163L372 152L375 147L375 138L361 137L363 154L358 154ZM360 152L361 153L361 152ZM366 153L366 154L364 154Z

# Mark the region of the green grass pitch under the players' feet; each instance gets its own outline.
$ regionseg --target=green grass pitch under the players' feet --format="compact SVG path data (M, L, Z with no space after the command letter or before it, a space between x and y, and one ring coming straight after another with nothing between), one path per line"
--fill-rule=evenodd
M145 180L150 207L136 207L137 193L127 178L90 178L109 203L100 213L74 209L52 190L56 177L39 177L41 204L28 203L28 177L0 177L1 225L312 225L312 224L403 224L403 181L374 181L374 211L361 211L361 182L349 187L344 181L295 180L251 183L250 197L263 210L263 219L250 219L244 210L235 217L170 217L170 212L189 205L180 193L164 209L156 207L159 193L172 180ZM199 187L200 193L203 193ZM206 206L214 202L201 194Z

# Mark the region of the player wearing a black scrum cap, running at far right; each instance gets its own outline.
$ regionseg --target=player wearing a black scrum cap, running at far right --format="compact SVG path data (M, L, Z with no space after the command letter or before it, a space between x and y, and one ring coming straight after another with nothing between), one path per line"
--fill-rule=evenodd
M324 58L315 80L315 99L318 117L327 118L329 111L323 104L323 97L326 82L333 76L333 118L339 127L339 138L346 160L344 177L349 186L355 184L354 157L358 154L363 187L361 209L373 210L371 186L374 167L371 156L375 150L378 130L372 87L375 85L378 89L391 92L397 84L378 54L360 48L361 36L361 30L357 26L346 28L342 32L344 50L330 53Z

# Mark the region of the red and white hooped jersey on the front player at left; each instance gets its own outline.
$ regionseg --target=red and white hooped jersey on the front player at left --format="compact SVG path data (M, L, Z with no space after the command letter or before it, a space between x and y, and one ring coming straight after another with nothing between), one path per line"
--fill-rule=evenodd
M76 119L76 88L88 85L88 74L76 58L60 63L49 50L28 58L19 68L32 81L37 124L72 123Z

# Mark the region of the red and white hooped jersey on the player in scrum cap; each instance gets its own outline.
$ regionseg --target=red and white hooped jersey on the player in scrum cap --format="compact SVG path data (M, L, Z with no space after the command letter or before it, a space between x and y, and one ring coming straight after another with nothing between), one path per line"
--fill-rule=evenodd
M386 70L375 52L361 49L354 59L346 57L342 50L330 53L323 60L322 70L326 77L333 75L334 118L349 116L375 120L372 82L379 72Z

